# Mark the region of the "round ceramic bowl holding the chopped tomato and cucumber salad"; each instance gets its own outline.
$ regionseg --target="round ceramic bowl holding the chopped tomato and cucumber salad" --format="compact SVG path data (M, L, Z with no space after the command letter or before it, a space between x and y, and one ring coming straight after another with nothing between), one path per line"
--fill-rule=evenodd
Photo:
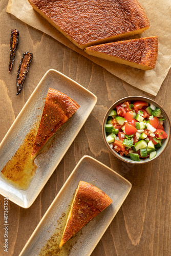
M106 141L106 132L105 132L105 124L108 120L108 115L110 113L111 110L115 109L115 107L117 105L119 105L120 103L123 103L124 101L145 101L145 102L148 102L148 104L150 103L153 103L156 107L160 108L161 111L162 111L162 115L163 117L165 118L164 120L164 131L167 133L167 138L164 139L162 141L162 147L160 147L157 151L156 151L156 156L152 159L149 159L149 158L145 158L145 159L140 159L140 161L133 161L131 160L130 157L125 157L125 156L120 156L119 153L117 153L116 151L113 150L113 148L111 148L110 144ZM103 124L102 124L102 133L103 133L103 138L104 138L104 141L105 141L105 144L106 146L109 148L109 150L112 152L112 154L114 156L116 156L117 158L119 158L120 160L124 161L124 162L127 162L127 163L134 163L134 164L142 164L142 163L147 163L147 162L150 162L154 159L156 159L158 156L160 156L163 151L165 150L168 142L169 142L169 138L170 138L170 121L168 119L168 116L166 114L166 112L164 111L164 109L162 108L161 105L159 105L156 101L152 100L152 99L149 99L149 98L146 98L146 97L142 97L142 96L129 96L129 97L125 97L125 98L122 98L118 101L116 101L111 107L110 109L106 112L105 116L104 116L104 119L103 119Z

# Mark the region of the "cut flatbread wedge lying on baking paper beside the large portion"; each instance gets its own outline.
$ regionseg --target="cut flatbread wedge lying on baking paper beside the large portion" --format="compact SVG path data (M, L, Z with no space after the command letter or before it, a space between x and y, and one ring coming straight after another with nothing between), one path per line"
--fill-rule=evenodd
M156 66L158 55L158 37L144 37L86 48L89 55L115 61L120 64L142 70L151 70Z

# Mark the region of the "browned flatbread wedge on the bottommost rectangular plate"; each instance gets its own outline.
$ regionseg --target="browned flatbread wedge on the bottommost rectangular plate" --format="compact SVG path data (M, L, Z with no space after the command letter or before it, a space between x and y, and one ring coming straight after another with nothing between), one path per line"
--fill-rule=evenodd
M112 199L102 190L88 182L80 181L74 194L59 247L111 203Z

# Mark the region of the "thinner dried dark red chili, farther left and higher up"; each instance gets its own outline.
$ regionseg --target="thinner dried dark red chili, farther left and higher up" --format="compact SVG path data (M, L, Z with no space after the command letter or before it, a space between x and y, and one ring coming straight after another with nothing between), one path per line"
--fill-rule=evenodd
M19 36L19 31L17 29L11 29L11 39L10 39L10 62L9 62L9 67L8 70L9 72L12 70L13 64L14 64L14 59L15 59L15 52L18 46L18 36Z

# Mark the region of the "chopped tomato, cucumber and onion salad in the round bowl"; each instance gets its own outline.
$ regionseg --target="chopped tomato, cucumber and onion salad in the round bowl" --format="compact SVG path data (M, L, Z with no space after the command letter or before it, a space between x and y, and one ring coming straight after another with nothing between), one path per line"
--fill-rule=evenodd
M109 113L106 140L114 151L133 161L152 159L167 138L162 112L144 101L125 101Z

